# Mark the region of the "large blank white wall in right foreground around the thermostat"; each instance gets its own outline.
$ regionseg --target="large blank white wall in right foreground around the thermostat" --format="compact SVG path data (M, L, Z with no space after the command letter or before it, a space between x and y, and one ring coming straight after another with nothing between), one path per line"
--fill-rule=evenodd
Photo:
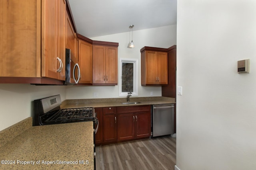
M180 170L256 169L256 1L178 0ZM250 59L250 73L237 61Z

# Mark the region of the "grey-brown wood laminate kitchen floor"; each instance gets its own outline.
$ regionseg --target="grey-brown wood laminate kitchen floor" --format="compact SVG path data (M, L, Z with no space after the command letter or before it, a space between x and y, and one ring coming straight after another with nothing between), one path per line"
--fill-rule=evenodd
M96 170L174 170L175 164L170 136L96 147Z

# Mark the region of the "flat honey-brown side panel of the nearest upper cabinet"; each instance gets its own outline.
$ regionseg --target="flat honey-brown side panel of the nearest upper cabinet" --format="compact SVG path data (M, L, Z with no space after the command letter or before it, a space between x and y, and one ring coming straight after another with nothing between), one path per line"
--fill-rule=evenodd
M41 4L1 0L0 16L0 76L41 77Z

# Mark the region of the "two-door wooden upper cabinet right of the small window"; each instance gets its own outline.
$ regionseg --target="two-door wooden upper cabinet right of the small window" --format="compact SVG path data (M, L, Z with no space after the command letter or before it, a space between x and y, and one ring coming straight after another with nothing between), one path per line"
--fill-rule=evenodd
M168 84L166 49L143 47L141 50L141 85Z

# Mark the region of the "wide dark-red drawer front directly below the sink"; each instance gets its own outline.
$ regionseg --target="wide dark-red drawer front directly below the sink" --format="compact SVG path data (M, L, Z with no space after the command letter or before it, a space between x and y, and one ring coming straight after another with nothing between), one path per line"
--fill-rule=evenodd
M117 114L139 113L139 112L148 112L148 111L151 111L151 105L117 107Z

